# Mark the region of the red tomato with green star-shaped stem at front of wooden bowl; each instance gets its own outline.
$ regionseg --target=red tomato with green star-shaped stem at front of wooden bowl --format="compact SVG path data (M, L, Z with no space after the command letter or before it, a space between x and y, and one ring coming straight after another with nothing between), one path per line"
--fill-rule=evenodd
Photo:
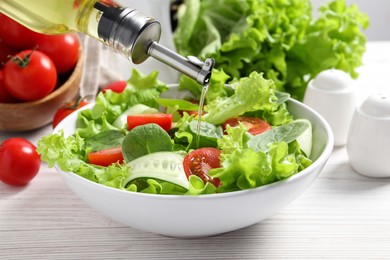
M57 83L56 68L40 51L18 53L4 66L4 85L8 92L22 101L41 99L52 92Z

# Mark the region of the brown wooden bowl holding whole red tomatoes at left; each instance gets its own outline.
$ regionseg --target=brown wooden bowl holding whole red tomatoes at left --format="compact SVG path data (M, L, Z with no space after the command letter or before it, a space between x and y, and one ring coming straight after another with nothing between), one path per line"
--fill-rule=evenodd
M78 62L69 77L42 99L22 103L0 103L0 131L29 131L51 123L58 108L78 97L82 63L80 49Z

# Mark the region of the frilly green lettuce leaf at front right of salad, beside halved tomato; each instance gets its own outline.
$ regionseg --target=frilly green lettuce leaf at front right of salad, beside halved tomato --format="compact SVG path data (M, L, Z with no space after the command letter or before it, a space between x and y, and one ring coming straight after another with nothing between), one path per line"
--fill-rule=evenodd
M212 169L209 174L223 183L217 192L230 192L286 179L311 163L296 141L291 144L275 142L270 144L268 153L236 150L222 162L222 168Z

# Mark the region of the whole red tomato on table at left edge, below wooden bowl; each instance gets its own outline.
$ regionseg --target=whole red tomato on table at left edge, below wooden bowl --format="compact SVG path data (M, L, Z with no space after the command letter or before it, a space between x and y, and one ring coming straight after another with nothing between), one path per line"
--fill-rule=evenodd
M35 146L23 138L10 138L0 145L0 180L13 186L30 182L38 173L41 158Z

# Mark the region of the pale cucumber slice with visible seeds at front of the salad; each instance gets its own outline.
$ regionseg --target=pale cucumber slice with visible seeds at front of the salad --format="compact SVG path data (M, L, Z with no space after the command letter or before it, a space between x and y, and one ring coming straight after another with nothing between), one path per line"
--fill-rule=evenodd
M125 183L138 178L159 179L188 190L189 182L183 168L183 157L173 152L156 152L128 163L130 176Z

